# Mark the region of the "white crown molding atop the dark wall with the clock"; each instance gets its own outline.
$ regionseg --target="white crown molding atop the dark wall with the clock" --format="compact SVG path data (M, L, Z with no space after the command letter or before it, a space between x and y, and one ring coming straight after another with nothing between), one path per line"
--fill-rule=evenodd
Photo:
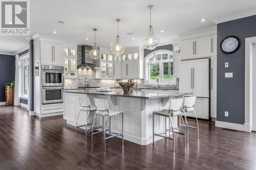
M222 23L222 22L227 22L230 20L235 20L235 19L240 19L240 18L244 18L247 16L252 16L252 15L256 15L256 9L253 10L248 10L248 11L244 11L244 12L240 12L240 13L236 13L236 14L232 14L232 15L227 15L221 18L218 18L216 20L213 20L215 23Z

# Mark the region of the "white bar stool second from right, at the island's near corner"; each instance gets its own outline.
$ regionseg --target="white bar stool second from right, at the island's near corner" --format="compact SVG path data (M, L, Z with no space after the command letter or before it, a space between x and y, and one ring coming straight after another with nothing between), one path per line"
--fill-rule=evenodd
M161 111L155 111L153 112L153 145L155 142L155 136L164 137L167 139L173 140L173 152L175 152L175 133L181 134L185 136L185 144L186 144L186 127L184 126L184 129L181 127L174 127L172 117L180 116L182 123L184 124L183 117L181 115L180 108L182 106L183 99L173 99L170 101L169 109L161 110ZM165 119L165 135L164 133L155 133L155 115L164 116ZM166 117L169 118L170 126L166 128ZM185 124L184 124L185 125ZM173 133L173 138L170 138L170 136L167 136L166 131Z

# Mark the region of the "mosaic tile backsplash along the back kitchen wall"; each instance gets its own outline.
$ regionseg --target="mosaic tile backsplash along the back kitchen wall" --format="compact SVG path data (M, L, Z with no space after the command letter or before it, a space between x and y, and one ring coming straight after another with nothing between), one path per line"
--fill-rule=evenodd
M77 65L81 64L81 45L77 45ZM127 80L103 80L96 79L94 69L78 69L76 79L67 79L65 88L77 88L85 86L86 82L90 82L91 87L118 87L119 82ZM157 87L156 85L145 85L143 79L133 80L137 82L137 87ZM179 83L176 85L160 85L160 87L179 88Z

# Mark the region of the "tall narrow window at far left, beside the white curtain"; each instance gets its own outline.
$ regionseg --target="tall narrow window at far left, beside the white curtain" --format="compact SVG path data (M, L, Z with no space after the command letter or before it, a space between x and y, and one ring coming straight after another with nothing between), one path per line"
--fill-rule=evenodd
M22 96L29 94L29 55L20 58L20 89Z

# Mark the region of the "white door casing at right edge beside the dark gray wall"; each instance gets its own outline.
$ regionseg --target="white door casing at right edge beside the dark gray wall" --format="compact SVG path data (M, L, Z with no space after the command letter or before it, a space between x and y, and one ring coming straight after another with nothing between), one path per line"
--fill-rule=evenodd
M245 131L252 130L252 45L256 44L256 37L245 38Z

